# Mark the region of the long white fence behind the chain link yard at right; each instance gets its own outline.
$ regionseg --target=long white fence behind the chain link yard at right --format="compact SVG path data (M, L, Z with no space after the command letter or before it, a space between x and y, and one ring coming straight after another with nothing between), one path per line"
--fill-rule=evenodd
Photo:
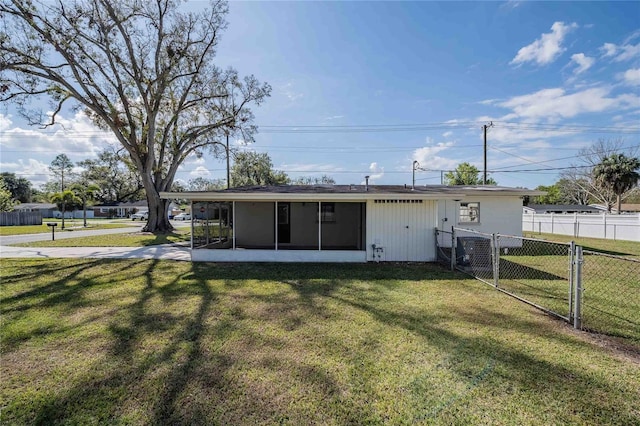
M523 213L522 230L576 238L640 241L640 214Z

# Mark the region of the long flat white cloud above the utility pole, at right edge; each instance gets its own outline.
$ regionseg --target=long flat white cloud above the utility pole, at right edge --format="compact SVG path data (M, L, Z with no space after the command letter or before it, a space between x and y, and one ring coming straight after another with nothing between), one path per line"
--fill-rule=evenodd
M602 112L614 109L635 108L640 96L621 94L608 97L610 89L589 88L567 94L564 89L543 89L528 95L515 96L499 106L510 108L509 118L558 119L571 118L582 113Z

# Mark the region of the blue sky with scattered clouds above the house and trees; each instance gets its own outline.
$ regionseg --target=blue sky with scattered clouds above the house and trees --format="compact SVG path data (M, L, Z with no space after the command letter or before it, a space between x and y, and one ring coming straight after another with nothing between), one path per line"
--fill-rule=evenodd
M640 2L232 2L230 10L218 64L273 87L254 109L256 143L242 149L268 152L291 177L410 184L417 160L417 183L437 184L440 170L461 162L482 169L482 125L491 121L488 169L505 186L555 182L599 138L640 145ZM91 128L81 116L64 119L78 134ZM104 143L29 129L8 105L0 131L2 171L36 183L59 152L79 161ZM204 157L177 177L224 175L224 161Z

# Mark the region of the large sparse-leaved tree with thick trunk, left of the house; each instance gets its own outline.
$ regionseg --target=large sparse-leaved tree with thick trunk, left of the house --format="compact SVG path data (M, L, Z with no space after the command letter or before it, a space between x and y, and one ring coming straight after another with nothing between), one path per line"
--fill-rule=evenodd
M214 62L226 2L185 9L178 0L0 0L0 99L45 126L71 102L113 132L140 173L148 231L171 229L159 192L180 164L225 132L251 141L248 107L271 90ZM46 117L32 107L40 96L52 103Z

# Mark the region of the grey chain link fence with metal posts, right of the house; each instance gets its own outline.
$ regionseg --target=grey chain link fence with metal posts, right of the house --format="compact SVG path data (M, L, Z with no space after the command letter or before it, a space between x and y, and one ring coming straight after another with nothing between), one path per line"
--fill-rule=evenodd
M469 229L436 230L438 262L576 328L640 346L640 260Z

